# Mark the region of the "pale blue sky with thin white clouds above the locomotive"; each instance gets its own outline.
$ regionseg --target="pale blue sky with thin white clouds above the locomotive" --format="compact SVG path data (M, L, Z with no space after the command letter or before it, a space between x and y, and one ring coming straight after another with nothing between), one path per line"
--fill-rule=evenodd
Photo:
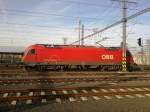
M150 7L150 0L130 0L128 16ZM112 0L0 0L0 46L28 46L35 43L63 44L78 39L78 19L85 26L85 36L93 28L102 29L121 19L120 3ZM121 25L85 41L108 38L100 44L119 46L122 41ZM137 38L150 39L150 13L129 21L128 46L137 45Z

